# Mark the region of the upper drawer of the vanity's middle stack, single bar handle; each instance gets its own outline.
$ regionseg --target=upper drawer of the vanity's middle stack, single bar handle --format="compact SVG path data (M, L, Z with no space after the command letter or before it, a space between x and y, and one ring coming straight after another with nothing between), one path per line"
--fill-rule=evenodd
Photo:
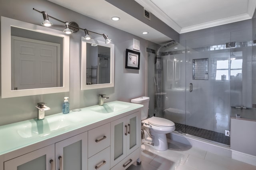
M88 158L110 146L110 123L88 131Z

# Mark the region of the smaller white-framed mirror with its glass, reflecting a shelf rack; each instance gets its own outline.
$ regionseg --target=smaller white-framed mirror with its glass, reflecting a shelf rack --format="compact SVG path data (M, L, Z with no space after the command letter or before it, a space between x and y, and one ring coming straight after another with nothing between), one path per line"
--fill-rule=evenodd
M82 90L114 87L114 44L82 37Z

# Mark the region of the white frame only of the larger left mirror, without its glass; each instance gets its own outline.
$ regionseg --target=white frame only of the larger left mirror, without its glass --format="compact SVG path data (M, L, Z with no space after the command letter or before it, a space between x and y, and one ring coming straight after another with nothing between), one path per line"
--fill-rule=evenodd
M44 33L63 38L63 86L52 88L35 88L24 90L11 90L11 27L18 27L30 31ZM50 29L32 23L26 23L1 16L1 89L2 98L32 96L69 92L69 36L62 31Z

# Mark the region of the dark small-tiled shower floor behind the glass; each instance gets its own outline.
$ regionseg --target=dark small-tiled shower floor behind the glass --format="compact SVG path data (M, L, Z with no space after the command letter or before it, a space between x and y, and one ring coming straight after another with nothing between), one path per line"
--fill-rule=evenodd
M209 130L201 129L198 127L183 125L180 123L175 123L175 127L176 127L175 131L178 131L178 132L181 131L182 133L186 133L196 137L201 137L201 138L215 141L218 143L223 143L225 145L230 145L230 137L225 136L224 133L209 131Z

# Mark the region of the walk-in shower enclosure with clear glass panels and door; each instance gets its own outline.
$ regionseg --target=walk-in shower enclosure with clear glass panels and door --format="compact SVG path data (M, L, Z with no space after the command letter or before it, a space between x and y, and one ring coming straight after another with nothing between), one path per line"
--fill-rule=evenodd
M252 107L253 42L248 29L148 47L150 117L230 145L231 107Z

